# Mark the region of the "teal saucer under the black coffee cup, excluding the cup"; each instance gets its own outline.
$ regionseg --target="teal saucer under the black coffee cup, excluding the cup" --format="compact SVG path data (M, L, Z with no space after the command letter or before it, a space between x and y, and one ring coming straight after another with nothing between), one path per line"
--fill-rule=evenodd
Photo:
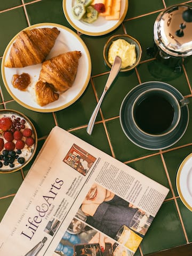
M154 137L140 131L138 127L134 124L132 119L132 105L134 100L140 95L140 93L148 89L154 88L165 89L171 92L178 100L183 99L183 95L173 86L163 82L150 81L135 86L125 96L121 104L119 113L120 123L126 137L130 139L135 145L149 150L165 149L174 145L177 141L181 139L183 134L186 132L189 123L189 109L186 105L181 108L181 118L179 124L169 134Z

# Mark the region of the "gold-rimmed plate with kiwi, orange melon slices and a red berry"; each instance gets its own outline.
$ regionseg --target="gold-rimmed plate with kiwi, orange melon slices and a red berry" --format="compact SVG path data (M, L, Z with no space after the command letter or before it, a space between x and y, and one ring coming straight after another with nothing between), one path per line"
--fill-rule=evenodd
M77 31L90 36L105 35L124 20L128 0L63 0L67 21Z

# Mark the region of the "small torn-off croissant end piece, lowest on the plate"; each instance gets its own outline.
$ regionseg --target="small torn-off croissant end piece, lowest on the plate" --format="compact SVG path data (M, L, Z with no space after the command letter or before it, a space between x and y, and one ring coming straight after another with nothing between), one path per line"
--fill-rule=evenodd
M35 94L36 101L41 107L59 99L59 94L54 92L52 86L42 81L36 83Z

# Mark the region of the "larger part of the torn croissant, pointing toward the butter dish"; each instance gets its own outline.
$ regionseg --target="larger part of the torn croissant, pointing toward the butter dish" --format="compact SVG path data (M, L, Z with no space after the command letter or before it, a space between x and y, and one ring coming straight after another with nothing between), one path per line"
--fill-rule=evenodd
M75 80L81 55L80 51L70 51L45 60L39 80L52 84L55 91L65 92Z

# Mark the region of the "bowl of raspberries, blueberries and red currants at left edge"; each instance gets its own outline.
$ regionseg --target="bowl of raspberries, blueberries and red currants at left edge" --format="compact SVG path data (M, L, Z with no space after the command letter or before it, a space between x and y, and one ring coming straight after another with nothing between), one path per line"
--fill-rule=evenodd
M29 118L11 109L0 110L0 173L20 170L33 158L37 133Z

